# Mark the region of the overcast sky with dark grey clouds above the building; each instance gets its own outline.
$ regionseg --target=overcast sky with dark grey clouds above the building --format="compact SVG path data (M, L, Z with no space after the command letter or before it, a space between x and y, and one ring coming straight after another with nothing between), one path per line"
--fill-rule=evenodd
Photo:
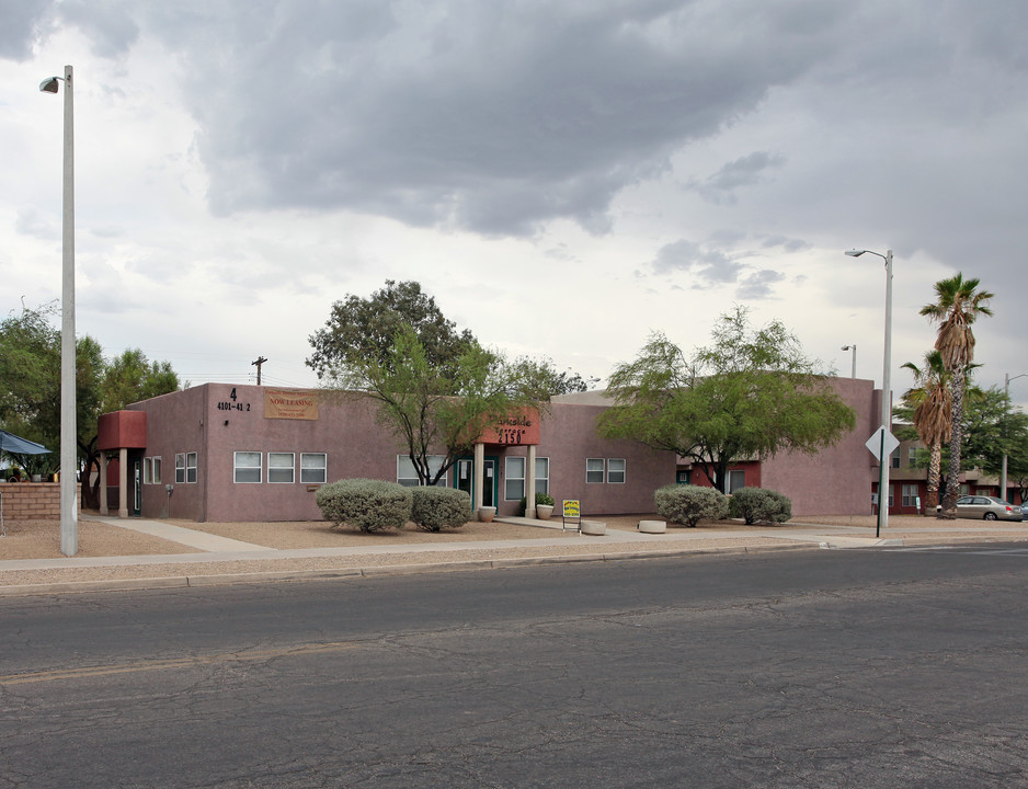
M347 294L415 279L510 355L605 377L734 305L893 388L979 277L978 381L1028 373L1024 0L0 0L0 310L194 385L316 384ZM1028 401L1028 377L1010 385Z

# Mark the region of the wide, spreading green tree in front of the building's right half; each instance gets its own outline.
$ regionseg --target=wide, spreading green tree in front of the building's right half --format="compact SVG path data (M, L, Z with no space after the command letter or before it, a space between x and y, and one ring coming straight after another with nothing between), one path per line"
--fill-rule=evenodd
M686 359L663 334L610 376L615 404L599 419L608 438L635 438L698 464L724 492L728 467L779 451L814 453L856 424L778 321L753 330L742 307L722 315L712 343Z

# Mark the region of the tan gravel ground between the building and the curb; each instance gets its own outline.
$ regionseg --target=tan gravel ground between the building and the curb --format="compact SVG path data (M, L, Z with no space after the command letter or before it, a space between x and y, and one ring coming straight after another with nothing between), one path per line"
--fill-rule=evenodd
M376 548L382 552L362 551L358 554L315 557L305 559L253 559L236 561L202 561L174 563L132 563L126 565L76 567L78 558L160 556L197 553L196 548L142 535L118 526L89 521L89 513L79 522L79 553L67 559L60 553L60 525L52 522L7 522L7 536L0 538L0 560L5 559L67 559L68 567L46 570L0 570L0 587L35 584L117 581L127 579L196 578L209 575L240 575L270 572L325 572L370 570L384 567L449 564L460 562L496 562L504 559L545 558L553 556L612 556L638 552L660 553L667 551L707 551L742 548L766 548L769 546L797 547L786 538L766 536L766 526L745 526L739 522L704 522L695 529L669 525L670 534L687 534L690 539L682 541L626 541L617 539L618 533L635 533L640 519L659 519L655 515L596 516L594 519L607 524L607 537L590 538L576 531L538 528L519 524L471 522L459 529L430 534L412 524L403 529L385 533L362 534L351 529L333 529L324 522L298 523L205 523L172 521L178 526L230 537L232 539L265 546L272 549L290 548ZM556 522L556 523L559 523ZM1001 529L991 529L983 523L970 521L939 522L924 517L890 518L889 538L906 541L958 541L1024 540L1028 539L1028 524L1002 524ZM803 517L785 524L784 530L810 529L813 534L845 534L847 536L873 537L873 516L822 516ZM925 534L920 529L945 529ZM1012 528L1014 530L1012 530ZM918 530L911 530L918 529ZM951 529L951 530L950 530ZM757 533L765 533L763 536ZM705 539L706 538L706 539ZM539 545L532 540L546 539L558 545ZM459 542L491 540L524 540L521 546L488 546L462 548ZM439 550L441 545L454 544L453 550ZM397 552L392 549L409 545L425 545L431 550ZM809 547L813 548L813 544ZM229 579L226 579L227 581Z

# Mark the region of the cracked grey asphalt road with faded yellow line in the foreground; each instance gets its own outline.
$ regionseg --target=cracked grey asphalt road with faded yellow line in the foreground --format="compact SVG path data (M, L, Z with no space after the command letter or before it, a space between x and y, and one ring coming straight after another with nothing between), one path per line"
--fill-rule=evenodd
M1028 549L3 601L5 787L1028 787Z

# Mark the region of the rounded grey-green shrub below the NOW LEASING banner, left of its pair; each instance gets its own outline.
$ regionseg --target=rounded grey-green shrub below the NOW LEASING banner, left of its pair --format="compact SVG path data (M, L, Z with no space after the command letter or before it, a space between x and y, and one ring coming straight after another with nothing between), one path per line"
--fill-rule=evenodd
M362 531L402 528L411 519L411 489L384 480L340 480L321 485L315 496L325 521Z

